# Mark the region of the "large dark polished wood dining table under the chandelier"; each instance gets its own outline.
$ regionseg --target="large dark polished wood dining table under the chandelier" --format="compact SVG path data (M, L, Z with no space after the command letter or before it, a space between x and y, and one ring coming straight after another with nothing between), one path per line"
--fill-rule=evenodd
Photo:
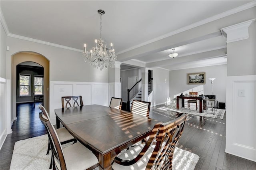
M112 169L122 150L150 134L159 121L102 105L55 109L56 118L99 160L99 168ZM56 120L57 120L56 119Z

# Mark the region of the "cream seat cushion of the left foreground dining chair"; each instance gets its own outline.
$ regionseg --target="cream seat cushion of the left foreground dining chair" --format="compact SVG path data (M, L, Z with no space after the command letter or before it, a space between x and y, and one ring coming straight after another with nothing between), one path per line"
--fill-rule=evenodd
M64 148L63 152L67 170L84 170L99 163L92 151L80 142ZM60 165L57 162L55 161L56 166L60 169Z

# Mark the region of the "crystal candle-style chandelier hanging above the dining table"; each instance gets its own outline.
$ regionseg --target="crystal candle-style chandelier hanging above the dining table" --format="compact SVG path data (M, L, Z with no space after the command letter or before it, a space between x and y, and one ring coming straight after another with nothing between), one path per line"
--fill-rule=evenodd
M86 51L86 44L84 44L84 51L82 56L84 57L84 61L89 63L93 67L97 69L100 68L102 70L104 67L107 68L108 65L111 66L117 59L115 49L113 48L113 44L110 43L111 49L106 47L106 43L101 38L101 30L102 30L102 21L101 16L105 14L104 10L98 10L98 14L100 14L100 39L95 40L95 46L89 51Z

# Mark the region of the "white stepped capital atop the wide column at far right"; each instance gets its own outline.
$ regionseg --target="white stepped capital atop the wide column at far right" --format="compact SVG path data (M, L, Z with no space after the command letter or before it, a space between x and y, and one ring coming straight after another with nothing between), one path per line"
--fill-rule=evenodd
M249 38L248 28L255 21L255 18L232 26L220 29L222 36L227 38L226 43L236 42Z

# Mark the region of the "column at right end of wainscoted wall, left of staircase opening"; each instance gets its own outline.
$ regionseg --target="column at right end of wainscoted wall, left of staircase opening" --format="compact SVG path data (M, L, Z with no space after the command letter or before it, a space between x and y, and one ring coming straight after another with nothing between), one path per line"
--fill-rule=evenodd
M120 82L120 65L122 62L115 61L111 67L108 67L108 99L111 97L121 97L121 82Z

